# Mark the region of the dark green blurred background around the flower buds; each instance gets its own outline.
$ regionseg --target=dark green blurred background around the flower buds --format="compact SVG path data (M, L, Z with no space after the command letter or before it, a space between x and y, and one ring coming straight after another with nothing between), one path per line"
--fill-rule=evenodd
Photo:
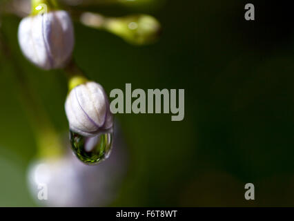
M245 21L246 3L83 6L108 16L148 13L163 28L156 44L138 47L75 22L75 61L108 94L126 83L185 89L182 122L164 114L115 116L128 170L105 206L294 206L293 6L251 1L256 20ZM23 57L19 21L1 21L15 59L0 52L0 206L38 206L26 177L37 148L17 95L16 65L58 133L68 136L66 77ZM248 182L255 184L254 201L244 199Z

